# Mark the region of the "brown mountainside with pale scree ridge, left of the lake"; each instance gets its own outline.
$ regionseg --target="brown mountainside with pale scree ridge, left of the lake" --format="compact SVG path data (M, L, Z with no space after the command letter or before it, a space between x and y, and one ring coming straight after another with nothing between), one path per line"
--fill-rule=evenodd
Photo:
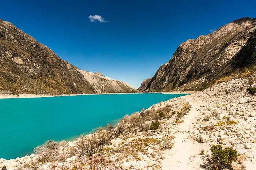
M84 72L10 22L0 19L0 93L138 92L127 83Z

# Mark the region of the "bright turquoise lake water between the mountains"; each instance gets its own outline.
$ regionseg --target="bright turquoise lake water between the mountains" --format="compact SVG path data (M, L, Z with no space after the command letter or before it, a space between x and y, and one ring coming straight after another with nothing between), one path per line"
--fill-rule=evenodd
M72 140L125 114L186 94L108 94L0 99L0 158L31 154L46 140Z

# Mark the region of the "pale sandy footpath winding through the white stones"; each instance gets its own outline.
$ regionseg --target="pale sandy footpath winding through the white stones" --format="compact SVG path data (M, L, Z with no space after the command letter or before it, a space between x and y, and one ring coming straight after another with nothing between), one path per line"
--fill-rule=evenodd
M184 116L184 122L180 124L179 132L175 134L174 147L163 153L165 159L162 160L162 170L198 170L203 163L198 154L204 146L187 139L189 128L197 120L199 106L189 98L186 100L191 104L192 109Z

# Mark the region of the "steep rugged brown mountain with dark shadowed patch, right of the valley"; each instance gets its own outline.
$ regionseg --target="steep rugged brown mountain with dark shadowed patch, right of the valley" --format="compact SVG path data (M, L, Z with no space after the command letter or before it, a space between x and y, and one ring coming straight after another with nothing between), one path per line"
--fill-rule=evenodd
M139 91L203 90L221 79L256 70L256 18L241 18L181 43Z

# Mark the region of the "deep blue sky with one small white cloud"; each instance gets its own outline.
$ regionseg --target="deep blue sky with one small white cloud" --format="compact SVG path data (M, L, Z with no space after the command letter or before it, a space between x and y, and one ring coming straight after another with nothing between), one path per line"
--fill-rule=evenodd
M255 0L0 0L0 4L0 18L64 60L136 88L170 60L181 42L233 20L256 17Z

